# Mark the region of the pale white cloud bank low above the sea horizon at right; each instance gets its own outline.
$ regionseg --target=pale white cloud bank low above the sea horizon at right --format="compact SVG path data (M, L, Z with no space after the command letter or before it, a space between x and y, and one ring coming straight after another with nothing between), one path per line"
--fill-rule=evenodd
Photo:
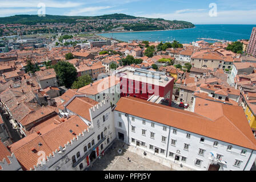
M182 11L169 14L144 14L140 16L168 20L185 20L194 24L256 24L256 10L218 11L217 17L210 17L209 11L181 12Z

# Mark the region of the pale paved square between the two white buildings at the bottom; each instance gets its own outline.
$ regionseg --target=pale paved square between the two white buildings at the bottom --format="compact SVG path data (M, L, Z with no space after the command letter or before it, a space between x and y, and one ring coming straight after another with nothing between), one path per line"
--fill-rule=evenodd
M128 146L119 140L110 146L101 159L97 159L89 168L90 171L170 171L171 168L163 166L153 160L146 159L127 150ZM118 154L121 149L122 153ZM129 158L129 160L127 159Z

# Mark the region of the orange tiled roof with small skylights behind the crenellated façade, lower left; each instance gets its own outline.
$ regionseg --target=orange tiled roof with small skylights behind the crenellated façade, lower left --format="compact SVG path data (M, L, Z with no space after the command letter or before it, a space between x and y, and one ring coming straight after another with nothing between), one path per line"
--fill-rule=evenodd
M58 120L59 123L50 123L40 129L41 135L30 134L9 146L23 170L34 169L38 162L38 151L44 151L46 156L53 155L55 150L59 151L59 146L64 147L67 142L88 128L86 123L77 115L72 115L64 122L61 122L61 119ZM35 149L35 152L32 149Z

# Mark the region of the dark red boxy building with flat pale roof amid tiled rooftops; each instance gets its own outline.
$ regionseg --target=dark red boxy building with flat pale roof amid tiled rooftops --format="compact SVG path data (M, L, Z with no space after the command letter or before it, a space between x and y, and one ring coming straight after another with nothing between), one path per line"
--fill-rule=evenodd
M149 100L152 96L164 98L171 106L174 78L165 73L125 67L115 72L120 77L121 97L131 96ZM156 97L157 99L160 99Z

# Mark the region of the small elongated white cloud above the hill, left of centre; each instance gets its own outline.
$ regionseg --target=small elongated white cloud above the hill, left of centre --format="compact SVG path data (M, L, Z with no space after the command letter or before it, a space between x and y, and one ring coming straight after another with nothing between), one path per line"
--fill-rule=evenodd
M69 13L67 13L66 15L76 16L76 15L82 15L84 13L89 14L89 15L94 15L94 14L99 13L99 11L101 11L101 10L110 9L110 8L111 8L111 6L85 7L83 9L72 10Z

